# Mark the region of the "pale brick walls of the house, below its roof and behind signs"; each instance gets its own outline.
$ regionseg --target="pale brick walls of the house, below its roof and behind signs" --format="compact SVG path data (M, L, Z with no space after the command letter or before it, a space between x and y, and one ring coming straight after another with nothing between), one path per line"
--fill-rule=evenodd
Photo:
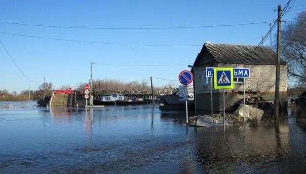
M236 64L214 64L210 67L234 67ZM245 89L259 91L258 93L247 93L246 98L254 96L262 96L266 100L274 100L275 96L275 72L276 65L237 65L236 67L250 68L250 78L245 79ZM197 108L199 110L210 110L210 80L208 84L203 85L202 72L206 66L196 67L195 75L195 91L197 99ZM232 106L236 101L243 98L243 94L236 93L243 90L243 83L234 84L234 92L232 89L225 90L226 105ZM213 89L213 110L218 112L223 105L222 89ZM287 106L287 65L280 67L280 101Z

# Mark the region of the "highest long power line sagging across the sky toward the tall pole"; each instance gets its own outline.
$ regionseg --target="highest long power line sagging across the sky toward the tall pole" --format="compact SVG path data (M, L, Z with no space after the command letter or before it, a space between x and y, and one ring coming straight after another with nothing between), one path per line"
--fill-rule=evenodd
M252 22L252 23L240 23L240 24L224 24L224 25L204 25L204 26L178 26L178 27L135 27L135 28L114 28L114 27L77 27L77 26L56 26L56 25L41 25L41 24L26 24L26 23L16 23L16 22L6 22L0 21L0 23L13 24L13 25L26 25L26 26L36 26L36 27L49 27L49 28L74 28L74 29L186 29L186 28L210 28L210 27L225 27L225 26L243 26L243 25L254 25L263 24L269 22Z

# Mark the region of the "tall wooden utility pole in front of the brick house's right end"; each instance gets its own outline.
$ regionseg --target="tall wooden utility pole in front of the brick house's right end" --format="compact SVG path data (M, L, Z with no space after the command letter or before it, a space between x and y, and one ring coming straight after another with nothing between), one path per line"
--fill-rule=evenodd
M282 6L278 6L278 18L277 18L277 52L276 52L276 80L275 80L275 122L278 125L279 122L279 103L280 103L280 62L281 62L281 13Z

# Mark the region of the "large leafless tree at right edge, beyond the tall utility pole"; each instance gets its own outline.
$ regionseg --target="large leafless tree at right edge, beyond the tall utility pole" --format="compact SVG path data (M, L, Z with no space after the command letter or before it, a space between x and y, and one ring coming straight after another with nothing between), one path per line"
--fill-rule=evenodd
M299 13L282 31L281 52L288 63L289 78L306 88L306 11Z

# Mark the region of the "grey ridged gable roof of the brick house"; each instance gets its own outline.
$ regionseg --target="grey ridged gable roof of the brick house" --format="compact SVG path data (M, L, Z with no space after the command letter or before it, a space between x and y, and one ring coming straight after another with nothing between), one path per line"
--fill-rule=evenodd
M205 50L205 47L212 54L216 63L276 64L276 53L270 47L259 46L252 54L250 53L256 46L206 43L202 51ZM205 54L202 51L200 54ZM281 64L286 64L286 62L281 59Z

